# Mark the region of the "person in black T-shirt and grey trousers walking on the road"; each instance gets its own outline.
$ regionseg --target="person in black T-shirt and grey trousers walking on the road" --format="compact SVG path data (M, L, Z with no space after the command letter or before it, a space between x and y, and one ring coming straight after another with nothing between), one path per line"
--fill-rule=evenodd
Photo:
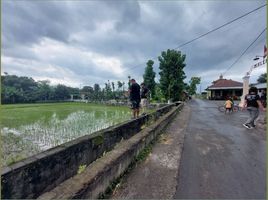
M260 96L258 95L258 89L256 87L251 87L249 89L249 94L245 96L243 110L245 108L247 108L249 111L249 118L246 123L243 124L243 126L247 129L252 129L255 127L254 121L259 116L259 108L261 108L263 111L266 111L261 103Z

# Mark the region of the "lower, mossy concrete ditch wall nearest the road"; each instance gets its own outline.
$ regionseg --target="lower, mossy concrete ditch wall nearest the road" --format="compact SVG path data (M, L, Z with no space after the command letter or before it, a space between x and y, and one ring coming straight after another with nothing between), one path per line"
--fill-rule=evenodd
M97 199L113 180L128 169L139 152L156 139L182 106L172 108L152 125L120 142L112 151L90 164L83 173L64 181L38 199Z

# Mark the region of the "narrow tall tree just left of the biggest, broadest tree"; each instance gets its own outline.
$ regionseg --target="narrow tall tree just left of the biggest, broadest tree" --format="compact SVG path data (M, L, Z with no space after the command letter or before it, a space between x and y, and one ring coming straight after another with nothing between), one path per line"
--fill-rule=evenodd
M155 96L155 72L153 70L154 61L148 60L146 63L145 72L143 74L143 82L145 86L151 91L152 97Z

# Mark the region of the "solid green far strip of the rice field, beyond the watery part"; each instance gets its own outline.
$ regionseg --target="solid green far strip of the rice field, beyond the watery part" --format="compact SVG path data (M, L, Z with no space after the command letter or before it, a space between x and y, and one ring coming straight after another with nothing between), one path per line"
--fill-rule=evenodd
M60 120L65 119L69 114L77 111L125 111L129 112L127 107L104 106L99 104L86 103L44 103L44 104L13 104L1 105L0 127L16 128L21 125L34 123L40 119L48 121L53 114L56 114ZM110 114L111 120L112 114Z

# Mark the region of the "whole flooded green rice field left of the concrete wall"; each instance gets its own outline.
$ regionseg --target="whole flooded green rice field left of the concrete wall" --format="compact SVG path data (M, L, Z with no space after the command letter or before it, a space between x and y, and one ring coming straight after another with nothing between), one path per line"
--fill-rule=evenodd
M2 161L38 152L131 118L128 107L86 103L1 105Z

